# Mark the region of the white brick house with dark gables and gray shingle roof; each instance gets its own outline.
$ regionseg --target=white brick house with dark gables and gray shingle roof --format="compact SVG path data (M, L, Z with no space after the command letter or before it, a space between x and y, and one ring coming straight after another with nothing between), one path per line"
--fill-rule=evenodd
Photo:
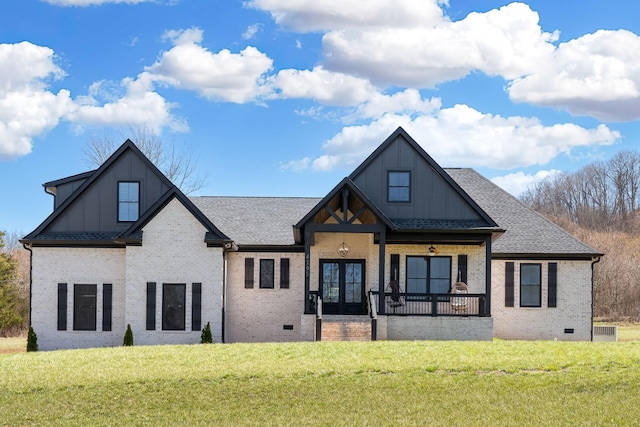
M186 197L131 142L44 184L31 250L41 349L591 340L601 254L398 128L323 198Z

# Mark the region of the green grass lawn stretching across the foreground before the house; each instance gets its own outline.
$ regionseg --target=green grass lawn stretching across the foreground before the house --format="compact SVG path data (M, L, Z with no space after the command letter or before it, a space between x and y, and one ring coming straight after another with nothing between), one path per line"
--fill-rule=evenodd
M640 342L121 347L0 355L6 425L633 425Z

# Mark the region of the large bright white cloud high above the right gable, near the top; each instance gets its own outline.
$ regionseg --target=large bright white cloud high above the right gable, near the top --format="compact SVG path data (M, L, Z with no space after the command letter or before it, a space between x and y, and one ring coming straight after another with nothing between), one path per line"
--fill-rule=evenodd
M437 25L331 31L322 41L328 69L377 84L427 88L473 70L518 78L551 55L555 37L541 30L527 5L512 3Z

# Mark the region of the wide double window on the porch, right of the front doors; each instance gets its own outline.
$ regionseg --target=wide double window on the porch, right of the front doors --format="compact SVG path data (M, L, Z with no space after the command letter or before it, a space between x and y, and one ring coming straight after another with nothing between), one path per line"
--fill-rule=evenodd
M451 258L408 256L407 293L446 294L451 287ZM408 295L408 299L424 299L419 295Z

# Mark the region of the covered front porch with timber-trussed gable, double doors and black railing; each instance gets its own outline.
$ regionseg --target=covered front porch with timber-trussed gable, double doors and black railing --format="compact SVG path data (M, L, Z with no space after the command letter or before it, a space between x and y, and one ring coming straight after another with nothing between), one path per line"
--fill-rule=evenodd
M392 220L345 178L294 231L304 244L304 313L316 317L316 339L333 316L368 316L371 339L493 337L483 320L491 318L493 224ZM348 317L339 322L352 329Z

